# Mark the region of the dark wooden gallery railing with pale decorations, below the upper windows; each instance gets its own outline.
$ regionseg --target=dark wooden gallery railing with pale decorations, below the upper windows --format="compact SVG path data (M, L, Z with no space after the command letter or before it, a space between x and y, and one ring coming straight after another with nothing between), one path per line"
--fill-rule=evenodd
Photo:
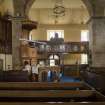
M65 42L58 45L39 45L38 52L47 53L88 53L89 43L88 42Z

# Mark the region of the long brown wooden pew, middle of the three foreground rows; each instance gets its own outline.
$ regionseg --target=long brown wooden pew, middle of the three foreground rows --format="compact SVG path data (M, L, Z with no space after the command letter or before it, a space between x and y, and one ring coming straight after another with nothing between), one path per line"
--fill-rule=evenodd
M89 97L94 90L0 90L0 98L72 98Z

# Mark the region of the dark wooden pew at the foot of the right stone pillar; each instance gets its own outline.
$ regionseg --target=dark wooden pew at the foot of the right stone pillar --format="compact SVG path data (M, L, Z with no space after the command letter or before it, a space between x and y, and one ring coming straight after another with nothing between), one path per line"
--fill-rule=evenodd
M88 71L82 71L81 76L88 84L105 95L105 67L91 68Z

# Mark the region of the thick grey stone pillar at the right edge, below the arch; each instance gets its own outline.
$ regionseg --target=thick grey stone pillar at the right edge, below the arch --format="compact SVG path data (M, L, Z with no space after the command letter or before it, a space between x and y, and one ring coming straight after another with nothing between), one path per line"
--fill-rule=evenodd
M105 17L93 17L89 21L92 65L105 67Z

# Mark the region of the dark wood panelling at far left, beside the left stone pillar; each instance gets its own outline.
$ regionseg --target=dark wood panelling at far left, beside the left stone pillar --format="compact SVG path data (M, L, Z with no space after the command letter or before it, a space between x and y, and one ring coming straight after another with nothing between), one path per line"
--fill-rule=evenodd
M0 18L0 53L12 53L12 23Z

